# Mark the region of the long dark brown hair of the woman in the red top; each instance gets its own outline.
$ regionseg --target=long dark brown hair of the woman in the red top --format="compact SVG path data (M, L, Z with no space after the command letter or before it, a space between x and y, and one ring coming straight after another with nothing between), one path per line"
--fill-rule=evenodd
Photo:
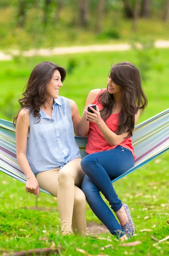
M135 114L140 109L143 113L147 106L147 98L143 93L141 86L140 73L130 62L120 62L112 66L110 78L113 83L122 87L122 108L118 117L118 129L116 134L123 134L128 127L129 134L127 137L132 137L132 132L135 126ZM100 94L98 101L103 105L100 111L100 116L106 121L112 113L114 107L114 96L107 90Z

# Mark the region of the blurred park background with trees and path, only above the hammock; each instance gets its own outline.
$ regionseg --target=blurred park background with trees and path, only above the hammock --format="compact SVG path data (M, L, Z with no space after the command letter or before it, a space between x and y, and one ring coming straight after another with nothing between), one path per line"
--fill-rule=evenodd
M80 114L89 91L106 87L111 64L130 61L149 99L143 121L169 105L167 40L169 0L0 0L0 118L16 115L40 61L66 68L60 95L74 99ZM95 52L97 45L112 50ZM79 46L94 47L80 53Z

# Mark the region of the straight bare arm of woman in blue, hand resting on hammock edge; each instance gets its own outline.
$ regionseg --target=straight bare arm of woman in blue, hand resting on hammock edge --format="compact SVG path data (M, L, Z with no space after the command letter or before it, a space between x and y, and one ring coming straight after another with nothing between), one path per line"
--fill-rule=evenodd
M39 185L34 173L32 172L29 162L26 158L27 137L30 126L29 111L22 109L18 115L16 123L16 150L17 162L27 177L26 192L39 195Z

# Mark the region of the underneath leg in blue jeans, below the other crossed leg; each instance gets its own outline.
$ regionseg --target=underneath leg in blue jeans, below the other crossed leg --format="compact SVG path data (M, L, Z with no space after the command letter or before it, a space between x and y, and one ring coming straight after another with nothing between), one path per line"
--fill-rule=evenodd
M103 199L100 196L99 189L95 186L94 183L90 180L90 178L85 175L82 181L82 190L86 195L86 200L95 213L97 218L103 222L103 224L108 228L110 233L113 235L118 235L121 237L125 233L121 229L120 224L116 220L114 214L111 209L106 205Z

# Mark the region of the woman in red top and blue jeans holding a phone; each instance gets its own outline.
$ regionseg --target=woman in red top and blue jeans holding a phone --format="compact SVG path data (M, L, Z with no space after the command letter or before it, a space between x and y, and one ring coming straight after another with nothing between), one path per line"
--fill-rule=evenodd
M94 113L87 111L91 104L97 105L96 110L91 108ZM121 62L112 66L107 89L89 93L79 125L80 135L88 135L87 156L81 161L86 174L82 190L95 215L121 241L133 236L135 227L128 206L118 198L111 180L135 164L131 137L140 110L146 105L139 71L131 63ZM100 192L109 201L120 224Z

